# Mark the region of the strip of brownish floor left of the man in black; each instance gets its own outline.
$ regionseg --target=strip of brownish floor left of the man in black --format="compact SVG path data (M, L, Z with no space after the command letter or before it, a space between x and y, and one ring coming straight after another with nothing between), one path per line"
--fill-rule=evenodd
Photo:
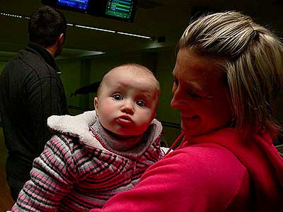
M3 131L0 127L0 212L11 209L14 201L11 199L8 185L6 182L6 164L7 151L4 144Z

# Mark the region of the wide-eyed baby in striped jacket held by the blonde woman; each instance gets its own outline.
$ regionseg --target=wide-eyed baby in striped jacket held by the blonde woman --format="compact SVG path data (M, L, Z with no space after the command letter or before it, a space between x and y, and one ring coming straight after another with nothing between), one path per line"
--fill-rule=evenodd
M57 135L34 160L12 211L89 211L134 187L164 155L154 119L159 93L149 69L125 64L103 77L96 111L50 117Z

